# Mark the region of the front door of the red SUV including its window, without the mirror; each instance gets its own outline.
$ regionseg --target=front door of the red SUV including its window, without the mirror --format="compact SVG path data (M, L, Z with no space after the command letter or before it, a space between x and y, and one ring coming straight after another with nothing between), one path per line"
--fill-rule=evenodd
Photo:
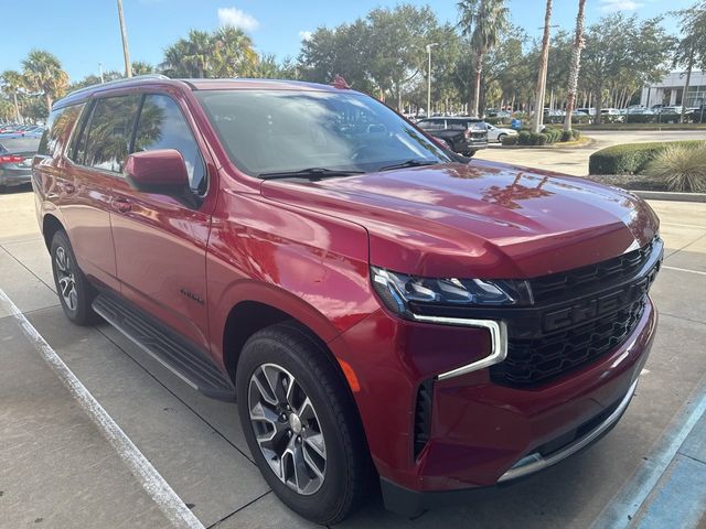
M204 149L176 97L145 95L132 150L181 152L197 205L139 193L126 181L116 186L111 223L117 273L125 298L207 349L205 258L211 215L204 198L212 190Z

